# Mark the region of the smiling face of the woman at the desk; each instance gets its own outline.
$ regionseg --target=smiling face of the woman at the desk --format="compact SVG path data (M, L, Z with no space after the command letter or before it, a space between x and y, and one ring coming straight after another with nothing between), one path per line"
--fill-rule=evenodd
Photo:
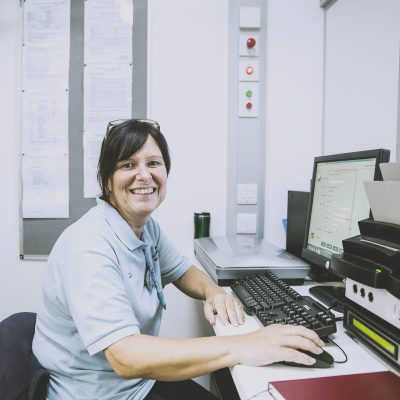
M119 161L108 181L110 203L134 228L143 227L167 191L167 170L151 135L128 160Z

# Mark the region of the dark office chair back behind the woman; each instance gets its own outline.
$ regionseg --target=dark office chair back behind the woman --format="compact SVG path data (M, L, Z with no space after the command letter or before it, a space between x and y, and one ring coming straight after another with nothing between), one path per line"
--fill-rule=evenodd
M0 397L44 400L49 373L32 353L36 314L20 312L0 322Z

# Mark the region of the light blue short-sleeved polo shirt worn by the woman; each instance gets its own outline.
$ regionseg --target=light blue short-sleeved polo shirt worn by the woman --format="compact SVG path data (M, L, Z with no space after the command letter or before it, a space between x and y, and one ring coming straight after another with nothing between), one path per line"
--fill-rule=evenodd
M145 252L162 286L191 262L153 219L141 239L98 199L54 245L33 340L51 372L48 400L141 400L150 391L152 380L118 377L103 350L130 335L158 335L163 308L156 288L144 284Z

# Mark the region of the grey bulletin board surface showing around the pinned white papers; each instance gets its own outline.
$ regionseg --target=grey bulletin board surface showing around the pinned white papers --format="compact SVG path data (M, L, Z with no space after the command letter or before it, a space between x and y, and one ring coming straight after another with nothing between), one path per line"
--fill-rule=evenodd
M29 0L27 0L29 1ZM90 1L90 0L89 0ZM71 1L69 59L69 217L24 218L20 207L20 258L46 259L60 234L95 205L83 192L84 1ZM133 0L132 116L147 115L147 2Z

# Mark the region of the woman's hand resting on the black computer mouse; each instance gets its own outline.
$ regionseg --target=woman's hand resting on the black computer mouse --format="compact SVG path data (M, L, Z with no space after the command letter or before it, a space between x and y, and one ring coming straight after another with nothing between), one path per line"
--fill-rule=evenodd
M279 361L311 365L315 359L296 349L320 354L324 346L314 331L297 325L270 325L232 338L235 340L234 352L238 363L250 366Z

